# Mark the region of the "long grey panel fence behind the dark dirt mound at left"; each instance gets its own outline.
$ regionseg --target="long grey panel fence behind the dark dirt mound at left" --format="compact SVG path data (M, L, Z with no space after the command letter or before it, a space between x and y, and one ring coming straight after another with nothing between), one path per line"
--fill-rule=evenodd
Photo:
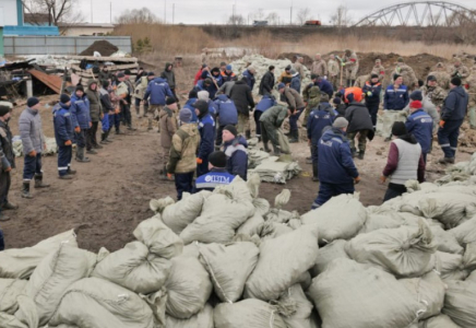
M107 40L128 54L132 52L130 36L4 36L4 54L78 55L96 40Z

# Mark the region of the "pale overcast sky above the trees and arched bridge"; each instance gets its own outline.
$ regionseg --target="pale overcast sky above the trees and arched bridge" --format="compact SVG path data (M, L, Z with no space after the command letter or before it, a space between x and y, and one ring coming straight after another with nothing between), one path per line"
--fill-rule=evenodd
M86 22L91 22L91 8L93 4L93 22L109 23L110 4L112 4L112 22L124 10L148 8L159 19L164 20L164 8L167 4L166 21L172 21L172 3L175 3L175 23L185 24L223 24L233 13L233 7L237 3L237 13L246 20L253 20L259 9L263 9L265 14L276 12L281 20L289 23L290 7L293 4L293 20L296 20L296 13L300 9L309 8L310 19L321 20L323 24L330 23L331 15L340 4L349 9L354 21L358 21L379 9L402 3L397 1L329 1L329 0L79 0L81 11ZM476 8L475 0L456 0L455 2Z

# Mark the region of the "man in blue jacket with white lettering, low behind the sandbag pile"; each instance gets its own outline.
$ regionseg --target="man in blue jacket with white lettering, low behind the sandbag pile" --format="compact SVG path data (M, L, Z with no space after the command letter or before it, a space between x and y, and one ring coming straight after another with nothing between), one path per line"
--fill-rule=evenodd
M224 152L213 152L209 156L210 172L199 176L195 180L197 192L202 190L213 191L218 186L231 184L234 175L226 171L227 156Z

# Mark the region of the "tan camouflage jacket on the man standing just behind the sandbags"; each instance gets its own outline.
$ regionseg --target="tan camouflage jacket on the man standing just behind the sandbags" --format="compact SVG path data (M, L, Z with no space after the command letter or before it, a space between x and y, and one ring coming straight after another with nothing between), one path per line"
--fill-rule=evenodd
M191 173L197 169L200 133L195 124L185 124L171 138L167 173Z

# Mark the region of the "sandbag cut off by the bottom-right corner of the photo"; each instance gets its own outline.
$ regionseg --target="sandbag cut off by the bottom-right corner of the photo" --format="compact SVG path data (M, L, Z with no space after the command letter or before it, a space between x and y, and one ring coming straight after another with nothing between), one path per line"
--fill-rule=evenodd
M476 283L449 281L442 312L462 328L476 327Z

